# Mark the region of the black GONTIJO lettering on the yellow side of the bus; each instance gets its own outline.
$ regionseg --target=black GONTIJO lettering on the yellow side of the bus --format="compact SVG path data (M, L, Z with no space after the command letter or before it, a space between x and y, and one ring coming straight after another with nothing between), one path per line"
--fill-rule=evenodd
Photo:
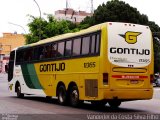
M64 71L65 63L51 63L51 64L41 64L39 67L40 72L53 72L53 71Z

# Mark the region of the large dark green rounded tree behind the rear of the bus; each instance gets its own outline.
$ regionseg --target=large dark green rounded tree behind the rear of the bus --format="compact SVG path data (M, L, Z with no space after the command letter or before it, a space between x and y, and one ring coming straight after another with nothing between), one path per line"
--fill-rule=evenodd
M88 26L92 26L107 21L149 25L152 31L160 31L160 27L149 21L147 15L141 14L137 8L119 0L111 0L98 6L93 16L85 18L81 24L88 23Z

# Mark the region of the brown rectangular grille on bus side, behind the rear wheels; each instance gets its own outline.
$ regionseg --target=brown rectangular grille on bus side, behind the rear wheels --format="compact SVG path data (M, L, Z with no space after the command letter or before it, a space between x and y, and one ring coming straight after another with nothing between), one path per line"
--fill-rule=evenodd
M98 97L98 81L96 79L85 80L85 96Z

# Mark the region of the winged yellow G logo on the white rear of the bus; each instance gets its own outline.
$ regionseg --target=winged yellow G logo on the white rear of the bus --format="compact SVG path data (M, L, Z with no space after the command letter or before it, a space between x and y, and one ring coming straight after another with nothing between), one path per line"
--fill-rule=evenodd
M124 35L119 34L125 39L128 44L135 44L137 42L137 37L140 35L140 32L127 31Z

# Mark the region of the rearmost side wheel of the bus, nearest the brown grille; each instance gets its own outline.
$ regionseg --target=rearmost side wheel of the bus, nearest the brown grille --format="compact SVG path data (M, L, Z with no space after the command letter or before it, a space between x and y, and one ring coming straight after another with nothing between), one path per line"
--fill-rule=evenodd
M72 86L69 91L69 102L73 107L78 107L81 101L79 100L79 91L77 86Z

